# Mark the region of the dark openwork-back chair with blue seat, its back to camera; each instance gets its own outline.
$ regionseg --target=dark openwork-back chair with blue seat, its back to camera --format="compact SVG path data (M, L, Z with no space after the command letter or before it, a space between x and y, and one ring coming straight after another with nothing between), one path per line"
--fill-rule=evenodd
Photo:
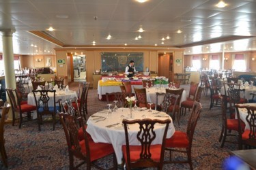
M39 93L39 96L37 95ZM56 90L33 90L33 96L35 99L36 113L38 116L38 131L41 131L41 124L43 122L52 123L53 131L55 130L55 124L57 123L56 114L57 111L61 111L61 104L59 99L56 101ZM52 102L52 103L51 103ZM58 105L56 105L58 104ZM50 118L46 119L45 116Z

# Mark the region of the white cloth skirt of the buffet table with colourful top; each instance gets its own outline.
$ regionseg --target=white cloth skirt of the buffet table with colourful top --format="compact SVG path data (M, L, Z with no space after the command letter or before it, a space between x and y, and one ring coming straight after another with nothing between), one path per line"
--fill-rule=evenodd
M142 85L132 85L132 93L134 93L133 88L143 88ZM106 92L121 92L120 86L100 86L98 84L98 97L101 100L102 95L106 95Z

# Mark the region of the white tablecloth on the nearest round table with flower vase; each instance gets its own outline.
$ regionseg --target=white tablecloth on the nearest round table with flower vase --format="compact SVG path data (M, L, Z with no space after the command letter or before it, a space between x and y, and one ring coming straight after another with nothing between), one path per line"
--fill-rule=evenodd
M167 117L155 117L155 116L167 116L165 113L153 114L156 113L155 110L153 112L148 112L148 109L145 111L132 111L132 119L141 118L143 115L146 118L152 119L160 119L165 120ZM102 120L100 122L96 122L95 117L90 117L87 121L87 132L91 135L94 142L104 142L111 143L115 150L115 155L117 156L117 163L122 163L122 145L126 144L126 138L124 133L124 127L122 126L121 115L124 115L126 118L130 119L130 109L129 108L119 108L117 112L113 112L111 115L107 115L106 112L98 112L94 114L94 116L104 116L107 117L106 120ZM170 118L170 117L168 117ZM171 119L171 118L170 118ZM119 123L119 125L106 128L106 125ZM156 139L152 142L152 144L162 143L162 135L164 133L165 126L160 124L156 124ZM138 145L139 141L137 141L137 132L139 131L138 124L129 125L129 135L130 135L130 144ZM169 130L167 133L167 138L171 137L175 132L175 128L173 126L173 121L171 120L171 124L169 124Z

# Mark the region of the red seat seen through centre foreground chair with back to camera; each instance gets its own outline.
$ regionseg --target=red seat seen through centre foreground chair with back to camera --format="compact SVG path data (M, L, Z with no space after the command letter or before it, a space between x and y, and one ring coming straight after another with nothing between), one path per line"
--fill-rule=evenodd
M161 147L162 147L162 145L151 145L150 146L150 152L152 154L151 159L154 160L155 162L160 161ZM127 163L126 146L122 146L122 151L124 154L124 160L126 160L126 163ZM139 160L139 154L141 154L141 146L130 146L130 161L131 162Z

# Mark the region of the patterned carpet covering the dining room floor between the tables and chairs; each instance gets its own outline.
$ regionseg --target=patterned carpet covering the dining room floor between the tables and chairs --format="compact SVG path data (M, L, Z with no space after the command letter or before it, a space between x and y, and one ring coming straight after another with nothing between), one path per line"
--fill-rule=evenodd
M71 89L76 89L77 84L72 84ZM188 86L184 86L188 92ZM221 132L221 108L215 107L209 110L210 97L201 99L203 111L197 123L193 141L193 167L194 169L221 169L223 160L229 156L229 150L235 150L236 146L225 143L220 148L218 137ZM106 102L98 101L97 90L89 90L88 95L89 114L106 108ZM183 116L180 126L174 122L175 129L185 131L188 114ZM66 138L57 124L52 131L51 124L43 124L42 131L38 131L37 122L27 122L18 129L18 124L5 126L5 148L8 154L8 169L69 169ZM235 139L233 139L235 140ZM169 158L166 152L165 157ZM178 156L177 159L181 157ZM109 156L98 161L102 167L111 167L112 158ZM0 160L0 169L6 169ZM86 169L85 166L81 169ZM94 169L94 168L93 168ZM165 165L165 169L189 169L184 164Z

